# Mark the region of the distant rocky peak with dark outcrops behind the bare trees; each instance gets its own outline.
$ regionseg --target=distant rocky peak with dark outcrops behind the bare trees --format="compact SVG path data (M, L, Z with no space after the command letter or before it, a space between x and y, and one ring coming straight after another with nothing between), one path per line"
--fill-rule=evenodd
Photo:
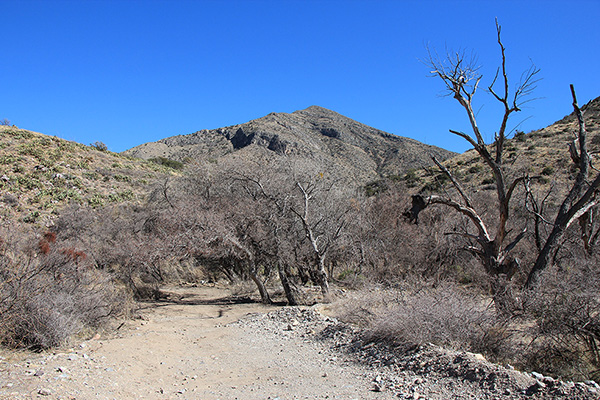
M324 171L365 184L431 165L456 153L395 136L334 111L311 106L293 113L271 113L250 122L145 143L124 152L144 159L180 162L236 157L308 160Z

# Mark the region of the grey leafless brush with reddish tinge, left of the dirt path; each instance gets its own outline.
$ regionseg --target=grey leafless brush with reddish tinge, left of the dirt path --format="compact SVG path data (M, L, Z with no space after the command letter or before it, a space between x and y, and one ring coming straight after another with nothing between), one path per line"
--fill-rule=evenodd
M57 248L53 235L27 240L3 232L0 244L0 343L43 349L61 345L122 314L125 292L83 252Z

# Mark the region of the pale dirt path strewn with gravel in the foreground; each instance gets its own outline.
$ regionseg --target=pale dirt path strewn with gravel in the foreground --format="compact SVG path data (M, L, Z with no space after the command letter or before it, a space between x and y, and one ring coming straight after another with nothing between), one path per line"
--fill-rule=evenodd
M176 292L177 301L149 305L113 337L54 353L2 354L0 398L397 398L372 391L373 371L306 337L295 319L243 318L275 307L236 304L223 289Z

